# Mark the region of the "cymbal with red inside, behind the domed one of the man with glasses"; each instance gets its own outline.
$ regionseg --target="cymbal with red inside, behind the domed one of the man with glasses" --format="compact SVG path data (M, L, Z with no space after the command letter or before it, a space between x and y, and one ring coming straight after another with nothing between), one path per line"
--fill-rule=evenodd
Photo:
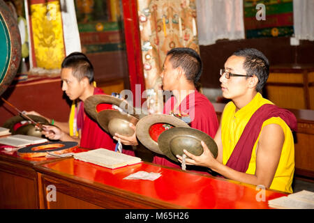
M136 136L150 151L163 154L158 147L158 137L160 133L167 128L174 127L190 128L190 126L180 118L167 114L150 114L138 121L136 125Z

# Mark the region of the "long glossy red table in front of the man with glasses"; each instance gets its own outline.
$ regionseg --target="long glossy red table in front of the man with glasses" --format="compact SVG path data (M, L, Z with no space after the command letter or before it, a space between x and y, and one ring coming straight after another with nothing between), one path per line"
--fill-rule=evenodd
M120 169L74 160L36 165L45 208L269 208L268 200L287 194L261 190L232 180L161 167L143 162ZM150 180L124 180L137 171L161 173ZM55 185L57 201L45 197ZM67 206L65 206L67 205Z

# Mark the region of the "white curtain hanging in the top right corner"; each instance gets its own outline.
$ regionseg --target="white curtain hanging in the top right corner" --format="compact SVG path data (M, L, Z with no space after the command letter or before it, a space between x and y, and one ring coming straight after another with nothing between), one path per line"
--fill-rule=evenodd
M293 1L294 37L314 40L314 0Z

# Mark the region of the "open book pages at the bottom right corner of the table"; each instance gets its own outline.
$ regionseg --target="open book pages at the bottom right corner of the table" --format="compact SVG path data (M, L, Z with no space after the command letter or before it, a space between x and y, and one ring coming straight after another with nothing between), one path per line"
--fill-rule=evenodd
M314 192L302 190L287 197L269 200L268 204L271 208L314 209Z

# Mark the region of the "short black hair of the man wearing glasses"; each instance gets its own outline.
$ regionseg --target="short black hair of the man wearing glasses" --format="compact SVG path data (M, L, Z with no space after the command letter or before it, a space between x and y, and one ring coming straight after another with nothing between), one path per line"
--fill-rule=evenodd
M258 78L256 91L261 91L269 77L269 61L267 57L257 49L240 49L232 54L233 56L243 56L244 69L246 75L255 75Z

